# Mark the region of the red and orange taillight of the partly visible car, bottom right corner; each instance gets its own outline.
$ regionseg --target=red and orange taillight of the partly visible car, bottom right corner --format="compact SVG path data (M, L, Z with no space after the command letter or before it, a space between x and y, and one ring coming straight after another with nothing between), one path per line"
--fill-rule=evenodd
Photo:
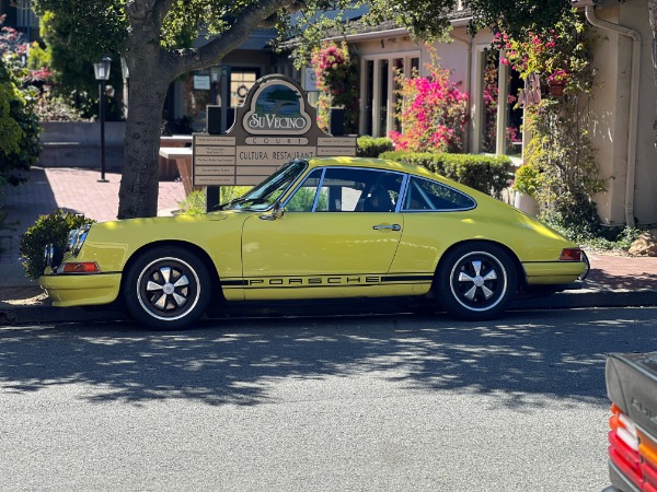
M616 405L609 419L609 458L644 492L657 492L657 444Z

